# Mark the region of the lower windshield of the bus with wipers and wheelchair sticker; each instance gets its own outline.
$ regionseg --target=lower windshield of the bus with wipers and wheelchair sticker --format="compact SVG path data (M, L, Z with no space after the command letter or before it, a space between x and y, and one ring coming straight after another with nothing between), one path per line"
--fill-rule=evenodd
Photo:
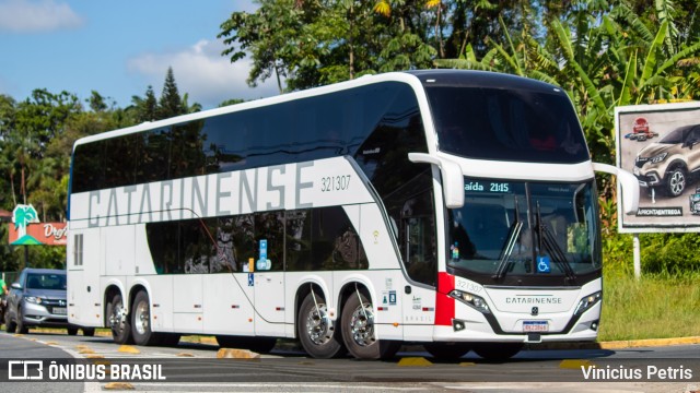
M465 179L465 203L448 211L448 265L494 278L600 269L593 182Z

